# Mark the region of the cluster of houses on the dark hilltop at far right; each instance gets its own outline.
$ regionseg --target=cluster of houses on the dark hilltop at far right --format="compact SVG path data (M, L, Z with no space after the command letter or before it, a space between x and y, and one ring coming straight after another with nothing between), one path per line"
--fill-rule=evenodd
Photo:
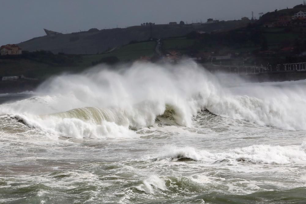
M277 21L264 24L264 27L287 27L290 25L304 26L306 25L306 11L299 11L293 16L281 16Z

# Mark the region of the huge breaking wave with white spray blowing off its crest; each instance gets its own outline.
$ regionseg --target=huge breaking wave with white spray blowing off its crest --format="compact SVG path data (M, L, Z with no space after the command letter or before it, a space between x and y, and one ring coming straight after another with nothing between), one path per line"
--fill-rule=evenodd
M192 61L135 63L54 77L32 98L0 106L0 114L29 126L76 138L130 137L160 118L192 127L203 109L262 126L306 129L305 91L298 85L245 84L228 88Z

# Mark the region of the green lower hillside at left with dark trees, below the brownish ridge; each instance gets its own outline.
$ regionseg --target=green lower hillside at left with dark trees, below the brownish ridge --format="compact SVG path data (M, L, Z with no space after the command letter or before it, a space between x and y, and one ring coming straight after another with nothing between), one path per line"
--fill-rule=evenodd
M107 63L110 57L116 62L128 62L140 57L153 57L156 42L128 44L104 54L52 54L46 51L35 51L20 56L0 57L0 76L29 76L47 79L61 72L80 72L92 65Z

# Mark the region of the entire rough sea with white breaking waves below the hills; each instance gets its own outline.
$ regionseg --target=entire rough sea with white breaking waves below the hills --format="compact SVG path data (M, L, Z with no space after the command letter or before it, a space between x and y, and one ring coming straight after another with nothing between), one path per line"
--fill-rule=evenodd
M121 68L0 95L0 203L306 203L306 81Z

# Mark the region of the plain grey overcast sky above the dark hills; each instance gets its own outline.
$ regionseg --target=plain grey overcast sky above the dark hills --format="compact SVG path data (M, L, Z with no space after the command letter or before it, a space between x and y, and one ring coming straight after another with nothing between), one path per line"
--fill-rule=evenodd
M251 18L292 8L303 0L0 0L0 45L90 28L125 28L144 22L166 24Z

